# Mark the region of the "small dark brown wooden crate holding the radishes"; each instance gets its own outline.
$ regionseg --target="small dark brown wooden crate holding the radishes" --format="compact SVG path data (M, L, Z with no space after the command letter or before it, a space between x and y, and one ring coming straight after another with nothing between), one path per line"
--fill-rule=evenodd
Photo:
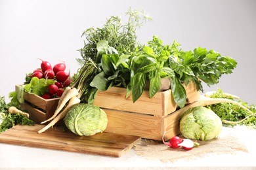
M18 86L15 86L16 91ZM24 103L20 106L24 110L28 110L30 119L36 123L41 123L53 116L56 107L58 106L59 98L43 99L39 95L24 92Z

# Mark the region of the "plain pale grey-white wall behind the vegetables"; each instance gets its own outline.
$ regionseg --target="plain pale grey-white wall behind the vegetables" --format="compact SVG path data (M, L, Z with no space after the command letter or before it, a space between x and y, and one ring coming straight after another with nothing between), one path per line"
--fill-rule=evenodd
M83 46L81 33L102 26L109 16L127 9L143 9L153 21L137 31L140 42L158 35L165 44L174 40L184 50L201 46L238 61L231 75L204 90L239 95L256 104L256 1L253 0L0 0L0 95L9 99L15 84L39 67L41 58L65 61L71 74Z

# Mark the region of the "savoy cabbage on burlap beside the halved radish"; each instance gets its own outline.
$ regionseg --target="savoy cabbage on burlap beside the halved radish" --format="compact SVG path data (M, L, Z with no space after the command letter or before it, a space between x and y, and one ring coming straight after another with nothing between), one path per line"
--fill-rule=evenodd
M222 127L221 118L206 107L190 108L181 116L180 130L187 139L214 139L221 133Z

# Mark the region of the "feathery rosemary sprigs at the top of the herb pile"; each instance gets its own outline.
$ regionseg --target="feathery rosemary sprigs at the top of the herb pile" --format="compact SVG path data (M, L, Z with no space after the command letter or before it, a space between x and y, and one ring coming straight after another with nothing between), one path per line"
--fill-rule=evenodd
M135 31L152 18L143 10L129 9L126 14L128 22L125 24L121 22L119 16L111 16L102 27L91 27L83 32L84 46L79 51L85 61L91 58L95 63L100 62L96 44L101 40L108 41L108 44L115 48L119 54L129 54L141 46L137 41Z

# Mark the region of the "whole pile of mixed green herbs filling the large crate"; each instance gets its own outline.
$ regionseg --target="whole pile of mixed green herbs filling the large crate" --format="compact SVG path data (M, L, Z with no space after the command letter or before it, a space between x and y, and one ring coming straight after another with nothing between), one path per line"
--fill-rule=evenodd
M143 11L131 9L127 15L127 24L112 16L102 27L86 29L82 35L85 44L79 50L81 56L85 63L91 59L98 67L84 86L87 93L83 95L89 96L85 97L89 99L85 102L93 103L97 90L112 86L127 88L126 96L132 92L135 102L142 95L146 82L150 84L150 97L154 97L160 89L161 78L171 78L175 102L184 107L186 91L182 84L193 81L197 89L203 91L201 81L208 86L217 84L221 75L232 73L236 67L234 59L213 50L198 47L184 52L178 42L163 45L157 36L148 41L148 45L140 44L135 31L151 18Z

